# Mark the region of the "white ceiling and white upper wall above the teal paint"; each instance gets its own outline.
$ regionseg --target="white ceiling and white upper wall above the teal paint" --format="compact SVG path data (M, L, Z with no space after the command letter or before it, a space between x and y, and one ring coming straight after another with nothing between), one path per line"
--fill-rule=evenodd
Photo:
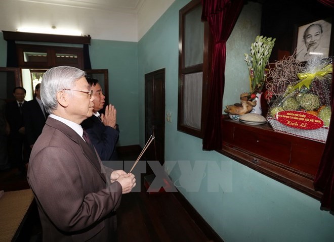
M0 0L0 31L54 26L55 31L70 29L92 39L137 42L174 1Z

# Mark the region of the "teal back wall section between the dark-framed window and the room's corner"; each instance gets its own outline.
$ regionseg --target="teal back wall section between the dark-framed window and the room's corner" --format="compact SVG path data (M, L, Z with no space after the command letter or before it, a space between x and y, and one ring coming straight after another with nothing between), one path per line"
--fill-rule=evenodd
M109 103L117 110L118 146L138 144L138 55L136 42L92 39L92 69L108 69Z

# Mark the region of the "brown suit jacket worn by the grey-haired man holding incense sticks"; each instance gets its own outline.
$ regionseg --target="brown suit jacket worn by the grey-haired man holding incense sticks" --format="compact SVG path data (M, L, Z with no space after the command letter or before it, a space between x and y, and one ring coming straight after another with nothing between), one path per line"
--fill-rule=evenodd
M73 129L48 117L27 173L44 241L111 241L122 194L111 172Z

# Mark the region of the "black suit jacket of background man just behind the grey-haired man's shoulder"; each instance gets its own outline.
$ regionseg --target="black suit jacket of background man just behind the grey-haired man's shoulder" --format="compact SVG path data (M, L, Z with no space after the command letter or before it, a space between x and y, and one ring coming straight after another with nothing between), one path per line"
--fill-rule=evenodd
M36 99L27 102L24 106L23 118L25 134L30 146L36 142L36 139L40 135L46 121L44 111L41 110Z

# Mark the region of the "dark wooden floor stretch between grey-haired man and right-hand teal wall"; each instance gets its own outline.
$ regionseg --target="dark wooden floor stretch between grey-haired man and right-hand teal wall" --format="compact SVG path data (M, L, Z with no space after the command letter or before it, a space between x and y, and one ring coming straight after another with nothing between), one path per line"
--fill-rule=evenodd
M175 195L150 194L143 188L122 196L117 210L119 241L222 241L210 230L206 234L207 225L190 216L196 212L187 212Z

